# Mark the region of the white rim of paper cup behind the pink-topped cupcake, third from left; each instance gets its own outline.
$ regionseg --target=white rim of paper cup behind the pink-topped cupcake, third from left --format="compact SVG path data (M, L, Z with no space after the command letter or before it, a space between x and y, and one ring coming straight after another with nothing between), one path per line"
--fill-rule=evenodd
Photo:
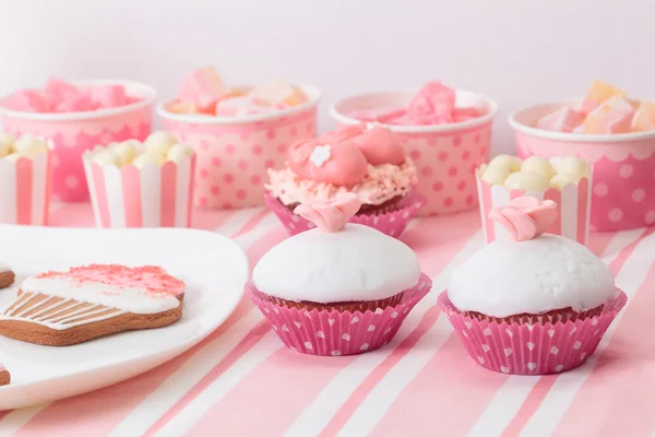
M333 103L332 105L330 105L330 116L332 118L334 118L336 121L344 123L344 125L359 125L360 122L362 122L361 120L358 120L356 118L344 115L340 110L340 106L342 106L348 102L364 98L364 97L373 97L373 96L392 97L392 96L407 95L407 94L414 95L414 94L416 94L417 91L418 91L417 88L397 90L397 91L381 91L381 92L355 94L355 95L350 95L347 97L342 97L338 101L336 101L335 103ZM478 128L480 126L485 126L485 125L493 121L493 119L498 115L498 104L496 103L496 101L491 99L490 97L487 97L484 94L479 94L479 93L475 93L475 92L466 91L466 90L455 90L455 93L457 94L457 96L466 96L468 98L478 99L480 102L484 102L489 107L489 111L481 117L473 118L471 120L465 120L465 121L446 123L446 125L428 125L428 126L422 126L422 125L421 126L405 126L405 125L388 125L388 123L380 123L380 125L384 126L392 132L396 132L396 133L455 132L455 131L461 131L461 130L466 130L466 129L471 129L471 128Z

